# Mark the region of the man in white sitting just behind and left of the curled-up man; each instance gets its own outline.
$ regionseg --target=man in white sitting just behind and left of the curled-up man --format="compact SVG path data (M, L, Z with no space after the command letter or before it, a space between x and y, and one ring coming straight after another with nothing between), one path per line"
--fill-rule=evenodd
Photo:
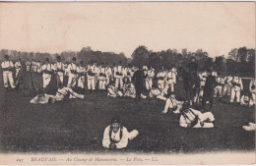
M171 92L169 98L166 100L164 110L161 113L166 114L168 110L171 110L174 114L179 114L183 102L184 101L176 100L174 92Z

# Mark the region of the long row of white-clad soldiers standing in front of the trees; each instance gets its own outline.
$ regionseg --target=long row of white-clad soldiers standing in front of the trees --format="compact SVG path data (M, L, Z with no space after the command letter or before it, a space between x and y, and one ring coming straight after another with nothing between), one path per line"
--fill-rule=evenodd
M175 84L177 83L177 69L174 67L166 70L160 68L158 73L156 73L153 67L146 65L142 66L142 68L127 67L123 66L121 61L118 65L113 64L110 66L105 63L85 65L83 61L77 63L75 57L71 63L63 63L60 56L57 56L56 59L57 62L55 63L50 63L49 58L46 58L44 63L34 60L30 61L29 59L25 63L27 72L41 74L42 89L48 86L54 76L57 79L56 85L64 86L64 76L66 76L68 77L66 87L78 87L82 93L85 90L95 91L99 89L102 91L107 90L107 95L112 97L130 96L136 98L136 93L139 92L141 94L138 95L137 99L156 96L159 99L166 100L165 96L169 91L175 91ZM6 55L5 61L2 62L1 66L5 88L7 90L10 90L10 88L16 89L16 86L22 82L21 59L14 64L9 60L9 56ZM230 102L236 101L241 105L248 106L255 104L256 83L254 79L249 84L248 93L241 95L244 87L238 75L221 76L215 71L199 72L195 58L191 59L186 68L189 73L195 74L198 78L198 89L190 102L202 101L203 104L205 102L210 102L211 104L215 97L229 96ZM134 76L138 71L141 71L142 74L139 78ZM187 75L188 73L185 74ZM139 85L136 85L135 80L139 80L138 83L141 82L142 86L140 88L136 88ZM188 82L186 81L186 83ZM142 89L146 89L149 93L142 94Z

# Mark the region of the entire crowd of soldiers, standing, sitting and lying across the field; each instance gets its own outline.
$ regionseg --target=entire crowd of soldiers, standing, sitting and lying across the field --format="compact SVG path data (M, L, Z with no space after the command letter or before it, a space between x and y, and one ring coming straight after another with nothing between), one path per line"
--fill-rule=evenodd
M75 57L71 63L63 63L60 56L57 56L56 59L57 62L51 63L46 58L43 64L29 59L26 61L26 71L31 74L38 73L42 77L42 87L37 90L38 94L32 98L32 104L54 103L55 101L64 100L67 95L68 98L85 99L83 91L94 92L96 89L107 91L109 97L128 96L140 100L141 98L155 96L158 99L165 100L162 114L167 112L180 114L179 125L181 127L214 128L215 117L212 114L214 98L228 96L229 102L235 101L244 106L255 105L256 101L256 83L254 79L250 81L249 93L244 93L241 96L244 87L238 75L220 76L212 70L199 72L195 58L191 59L184 71L177 71L173 67L167 70L160 68L158 72L153 67L146 65L126 67L122 65L121 61L118 65L109 66L107 64L96 65L96 63L85 65L83 61L78 64ZM22 82L21 59L13 63L9 60L9 56L5 55L5 61L1 63L1 67L6 90L17 90L19 83ZM177 78L178 72L182 72L183 77ZM49 95L45 93L45 89L53 77L56 77L58 88L55 95ZM64 77L68 77L66 85L64 85ZM191 80L186 80L187 78ZM186 88L187 83L193 80L194 84L192 84L191 89L196 89L196 92L192 99L186 98L185 101L178 101L175 98L175 87L179 80L183 80L184 88ZM77 92L77 89L83 94ZM197 101L202 101L203 109L201 111L191 107ZM204 105L207 102L210 102L210 111L205 111ZM255 130L256 125L249 123L243 129L246 131ZM102 145L106 148L124 148L128 139L136 138L138 135L139 132L136 130L131 133L127 132L126 128L121 126L118 118L113 119L111 125L104 131Z

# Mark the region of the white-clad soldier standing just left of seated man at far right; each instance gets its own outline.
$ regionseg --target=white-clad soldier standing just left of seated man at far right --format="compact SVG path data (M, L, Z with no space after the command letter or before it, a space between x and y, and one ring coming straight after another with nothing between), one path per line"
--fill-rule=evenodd
M236 74L236 76L234 76L232 78L232 82L231 83L232 83L232 86L231 86L230 102L232 103L234 101L234 97L236 97L236 103L239 103L240 102L241 90L243 89L242 80Z

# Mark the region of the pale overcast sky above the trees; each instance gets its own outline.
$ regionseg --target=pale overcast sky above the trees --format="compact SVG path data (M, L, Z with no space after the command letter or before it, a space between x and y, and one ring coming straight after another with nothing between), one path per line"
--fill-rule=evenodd
M56 53L255 48L254 2L1 3L0 49Z

